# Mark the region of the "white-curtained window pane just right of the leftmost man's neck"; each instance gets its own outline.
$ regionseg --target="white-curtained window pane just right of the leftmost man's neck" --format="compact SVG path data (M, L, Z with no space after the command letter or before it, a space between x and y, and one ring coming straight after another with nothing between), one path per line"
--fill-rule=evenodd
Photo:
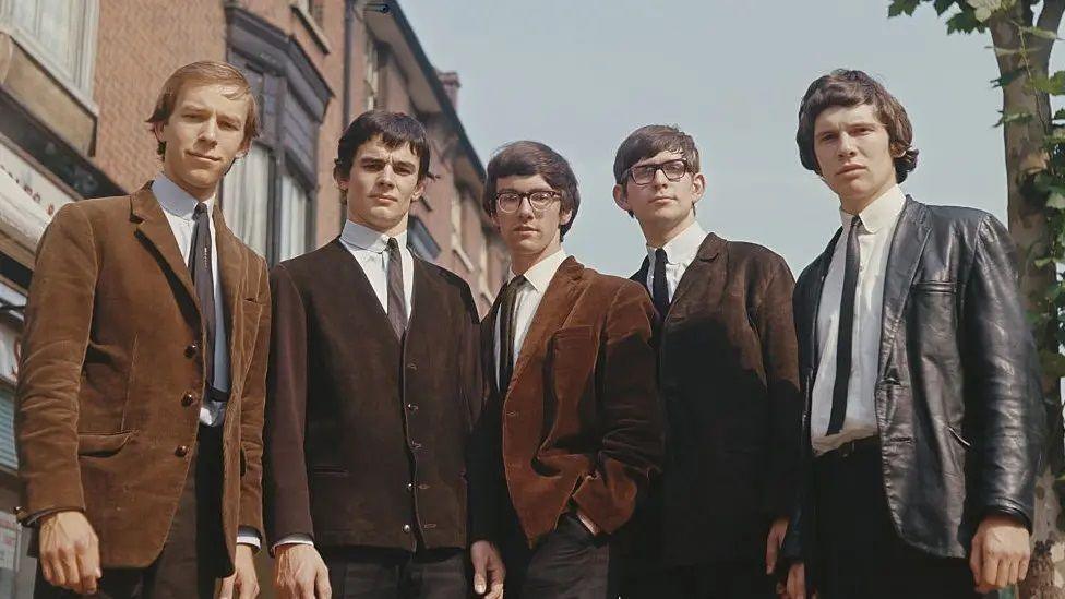
M259 255L266 255L270 207L270 152L252 144L222 182L222 212L232 232Z

